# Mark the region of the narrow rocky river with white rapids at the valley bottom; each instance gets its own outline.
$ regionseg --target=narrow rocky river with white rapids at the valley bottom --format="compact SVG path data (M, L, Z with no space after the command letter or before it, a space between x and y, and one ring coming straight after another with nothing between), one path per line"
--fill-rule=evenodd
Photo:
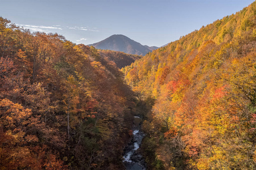
M138 148L141 146L141 141L144 137L144 133L141 131L142 118L134 116L133 125L133 138L128 146L125 147L125 155L123 156L123 164L127 170L144 170L146 169L146 163L141 154L138 152Z

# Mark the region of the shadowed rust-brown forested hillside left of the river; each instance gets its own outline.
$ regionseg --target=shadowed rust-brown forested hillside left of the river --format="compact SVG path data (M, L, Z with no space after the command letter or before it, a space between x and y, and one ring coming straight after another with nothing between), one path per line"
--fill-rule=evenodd
M0 31L0 169L123 169L134 100L115 64L7 19Z

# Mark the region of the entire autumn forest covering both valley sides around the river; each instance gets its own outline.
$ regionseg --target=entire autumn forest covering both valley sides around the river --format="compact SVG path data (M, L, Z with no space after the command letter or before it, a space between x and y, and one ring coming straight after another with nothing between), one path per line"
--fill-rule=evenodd
M256 2L137 56L0 17L0 169L256 169Z

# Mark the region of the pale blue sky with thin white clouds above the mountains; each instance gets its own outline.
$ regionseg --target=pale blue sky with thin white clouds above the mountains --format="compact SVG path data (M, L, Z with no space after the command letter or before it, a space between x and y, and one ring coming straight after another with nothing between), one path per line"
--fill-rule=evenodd
M0 16L31 32L52 32L76 44L122 34L162 46L253 0L0 0Z

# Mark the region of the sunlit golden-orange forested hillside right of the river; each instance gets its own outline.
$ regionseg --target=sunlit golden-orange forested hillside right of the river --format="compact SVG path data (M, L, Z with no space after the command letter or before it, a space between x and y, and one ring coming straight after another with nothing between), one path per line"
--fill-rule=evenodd
M125 67L150 169L256 169L256 2Z

